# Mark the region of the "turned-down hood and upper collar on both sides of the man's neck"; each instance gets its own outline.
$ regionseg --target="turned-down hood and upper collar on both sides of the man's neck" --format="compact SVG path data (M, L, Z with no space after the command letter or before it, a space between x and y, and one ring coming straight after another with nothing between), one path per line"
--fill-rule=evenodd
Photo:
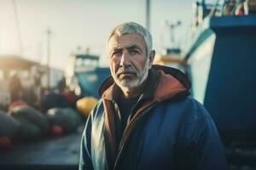
M143 88L140 99L156 99L158 101L172 98L176 94L189 92L190 82L182 71L164 65L153 65L148 71L147 86ZM153 93L154 92L154 93ZM121 89L108 77L102 82L98 91L102 99L119 99Z

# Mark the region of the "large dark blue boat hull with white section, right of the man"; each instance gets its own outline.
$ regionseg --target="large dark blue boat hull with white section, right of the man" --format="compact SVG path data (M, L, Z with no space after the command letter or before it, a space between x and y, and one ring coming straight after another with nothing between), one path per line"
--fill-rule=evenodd
M217 124L230 165L256 167L256 1L199 0L194 9L183 49L191 93Z

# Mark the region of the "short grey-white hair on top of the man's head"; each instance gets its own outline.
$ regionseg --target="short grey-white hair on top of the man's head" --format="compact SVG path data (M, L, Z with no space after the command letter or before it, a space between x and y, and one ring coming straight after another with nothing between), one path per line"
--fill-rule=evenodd
M122 36L125 34L133 34L137 33L141 37L143 37L144 42L146 43L146 52L147 55L149 56L151 50L152 50L152 37L148 29L144 28L143 26L137 24L136 22L125 22L119 26L116 26L113 28L113 31L108 36L108 41L107 41L107 47L108 47L108 42L113 35L117 36Z

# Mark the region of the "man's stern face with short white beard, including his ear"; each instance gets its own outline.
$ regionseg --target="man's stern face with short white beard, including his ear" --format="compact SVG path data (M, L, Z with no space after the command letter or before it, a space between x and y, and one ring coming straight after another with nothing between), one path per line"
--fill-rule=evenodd
M108 42L111 75L120 88L137 88L148 77L152 61L146 43L138 34L113 36Z

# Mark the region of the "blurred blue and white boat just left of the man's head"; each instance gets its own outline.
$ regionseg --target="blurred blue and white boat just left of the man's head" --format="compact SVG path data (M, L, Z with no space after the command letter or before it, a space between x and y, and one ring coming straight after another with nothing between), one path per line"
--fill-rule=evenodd
M110 70L99 66L98 55L73 54L65 75L67 86L76 94L99 99L98 88L110 76Z

